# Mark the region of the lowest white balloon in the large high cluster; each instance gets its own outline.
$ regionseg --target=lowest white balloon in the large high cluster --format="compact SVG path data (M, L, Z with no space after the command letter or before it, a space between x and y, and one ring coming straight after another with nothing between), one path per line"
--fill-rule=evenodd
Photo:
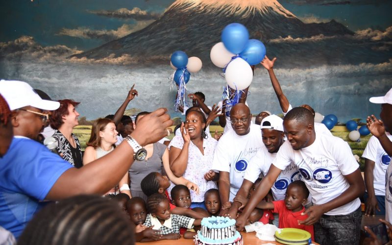
M225 78L232 89L243 90L253 79L252 68L242 58L236 58L226 68Z

